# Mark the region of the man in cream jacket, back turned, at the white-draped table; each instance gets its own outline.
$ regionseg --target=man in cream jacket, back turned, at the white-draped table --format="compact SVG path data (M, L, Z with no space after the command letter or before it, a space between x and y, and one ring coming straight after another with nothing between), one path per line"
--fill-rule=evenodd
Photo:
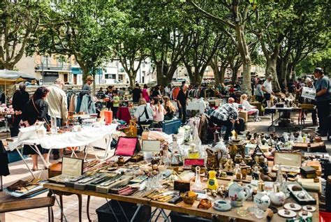
M61 127L62 124L66 124L68 117L68 105L66 93L63 91L64 81L57 79L50 87L50 90L46 101L48 103L48 114L50 117L57 118L57 126ZM53 149L53 158L57 160L59 158L59 149Z

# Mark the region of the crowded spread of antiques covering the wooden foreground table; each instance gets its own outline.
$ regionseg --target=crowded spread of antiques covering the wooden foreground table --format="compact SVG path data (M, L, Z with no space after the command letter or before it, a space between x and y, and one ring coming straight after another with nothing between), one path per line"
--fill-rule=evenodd
M316 195L307 192L311 184L300 179L319 178L321 158L301 154L295 143L310 142L307 135L247 132L243 137L235 134L227 147L218 136L213 146L198 145L189 138L185 135L187 145L176 138L169 150L157 142L143 142L140 149L138 140L121 139L115 156L84 164L64 159L64 168L71 169L49 180L81 191L131 195L188 210L230 211L253 219L314 214ZM284 149L289 144L290 149ZM149 158L147 150L153 152ZM83 171L82 165L88 170Z

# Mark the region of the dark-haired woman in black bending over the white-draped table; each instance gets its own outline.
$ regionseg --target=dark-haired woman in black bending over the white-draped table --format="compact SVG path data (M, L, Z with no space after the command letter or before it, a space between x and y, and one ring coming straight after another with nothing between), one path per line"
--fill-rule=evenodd
M22 121L25 126L32 126L36 124L36 121L45 121L46 124L49 124L48 117L48 104L45 101L45 98L48 94L48 89L46 87L39 87L34 96L29 100L27 105L25 105L22 112ZM43 149L41 146L38 146L38 149L41 151L41 154L47 158L47 150ZM38 154L34 149L29 145L24 145L24 155L31 155L34 167L32 170L38 170Z

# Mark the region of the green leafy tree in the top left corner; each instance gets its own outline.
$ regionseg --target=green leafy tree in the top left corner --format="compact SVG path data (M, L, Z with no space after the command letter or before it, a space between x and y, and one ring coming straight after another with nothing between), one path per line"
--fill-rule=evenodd
M0 69L13 69L34 40L49 1L0 1Z

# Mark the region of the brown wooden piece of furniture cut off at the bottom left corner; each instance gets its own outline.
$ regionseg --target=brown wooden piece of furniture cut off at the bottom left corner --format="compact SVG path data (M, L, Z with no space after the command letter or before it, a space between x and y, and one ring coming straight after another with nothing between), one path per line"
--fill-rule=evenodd
M0 214L7 212L17 212L25 209L38 209L42 207L48 208L48 221L54 221L53 209L54 206L54 197L46 198L32 198L28 200L17 200L9 202L0 203Z

